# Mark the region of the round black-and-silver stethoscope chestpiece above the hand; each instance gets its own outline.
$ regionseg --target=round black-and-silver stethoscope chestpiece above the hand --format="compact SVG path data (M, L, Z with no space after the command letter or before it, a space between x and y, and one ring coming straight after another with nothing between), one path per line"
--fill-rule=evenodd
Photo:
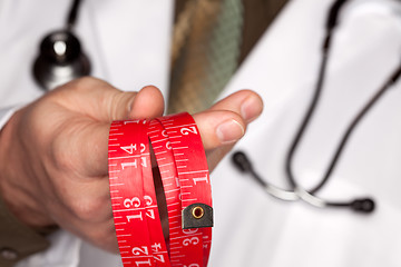
M89 73L89 59L71 31L53 31L41 41L33 77L42 89L49 90Z

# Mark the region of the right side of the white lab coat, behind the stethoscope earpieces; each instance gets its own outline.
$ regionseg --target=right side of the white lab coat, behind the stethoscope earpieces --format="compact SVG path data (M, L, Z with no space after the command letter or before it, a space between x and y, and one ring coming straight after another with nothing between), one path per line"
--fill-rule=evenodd
M265 111L237 149L247 151L266 180L283 187L285 154L316 79L327 4L293 1L226 91L260 89ZM322 177L344 127L400 63L401 18L374 4L360 1L342 16L322 102L294 160L304 187ZM319 194L333 200L372 196L373 215L272 199L226 158L213 179L211 266L400 266L400 86L361 122Z

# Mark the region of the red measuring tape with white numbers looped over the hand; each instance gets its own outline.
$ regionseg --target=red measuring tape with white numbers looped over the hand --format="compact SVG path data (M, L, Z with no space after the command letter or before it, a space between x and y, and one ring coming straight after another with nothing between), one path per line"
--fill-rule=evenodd
M157 207L149 141L166 197L167 244ZM108 157L113 214L124 267L206 267L212 243L212 192L194 119L178 113L151 121L114 121Z

